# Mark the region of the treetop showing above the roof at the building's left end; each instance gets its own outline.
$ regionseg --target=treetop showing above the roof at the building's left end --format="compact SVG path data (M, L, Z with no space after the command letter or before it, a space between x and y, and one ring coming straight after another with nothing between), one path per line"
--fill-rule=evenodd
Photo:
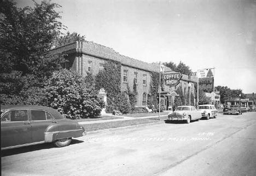
M75 41L85 41L85 36L78 34L77 32L67 32L65 35L59 36L55 39L54 46L62 46Z

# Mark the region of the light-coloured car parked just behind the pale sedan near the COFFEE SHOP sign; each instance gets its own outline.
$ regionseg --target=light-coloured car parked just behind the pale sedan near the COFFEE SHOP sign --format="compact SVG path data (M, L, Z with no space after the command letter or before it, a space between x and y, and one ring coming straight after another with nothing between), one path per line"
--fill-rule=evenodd
M197 109L201 111L202 118L207 120L216 118L219 115L218 110L212 104L199 105Z

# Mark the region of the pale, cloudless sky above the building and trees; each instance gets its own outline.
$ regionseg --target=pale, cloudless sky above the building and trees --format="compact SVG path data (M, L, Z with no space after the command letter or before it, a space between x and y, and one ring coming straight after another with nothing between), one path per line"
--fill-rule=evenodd
M62 6L67 31L86 40L148 63L214 67L215 86L256 93L256 0L52 2Z

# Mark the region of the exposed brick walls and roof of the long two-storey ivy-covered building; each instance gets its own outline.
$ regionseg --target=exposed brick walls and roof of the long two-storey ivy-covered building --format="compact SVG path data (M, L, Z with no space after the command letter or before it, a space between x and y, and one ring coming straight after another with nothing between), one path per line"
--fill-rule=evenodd
M108 60L118 61L121 63L121 91L127 93L127 84L132 87L133 80L137 84L137 107L144 107L147 104L147 98L150 92L150 72L159 72L158 64L150 64L142 62L127 56L123 56L112 48L96 44L93 42L73 42L53 50L51 53L65 53L69 64L66 68L78 72L79 74L86 76L86 72L91 72L92 75L96 75L100 69L104 68L104 63ZM166 67L166 71L171 71L170 68ZM184 93L188 93L188 84L191 83L191 93L195 94L194 84L197 83L196 77L188 77L183 75L181 86ZM177 86L177 87L178 87ZM167 87L161 91L161 99L165 102L165 107L171 107L174 101L174 96L177 96L175 90L177 87ZM100 95L106 99L106 93L104 90L100 91ZM107 103L107 102L106 102Z

